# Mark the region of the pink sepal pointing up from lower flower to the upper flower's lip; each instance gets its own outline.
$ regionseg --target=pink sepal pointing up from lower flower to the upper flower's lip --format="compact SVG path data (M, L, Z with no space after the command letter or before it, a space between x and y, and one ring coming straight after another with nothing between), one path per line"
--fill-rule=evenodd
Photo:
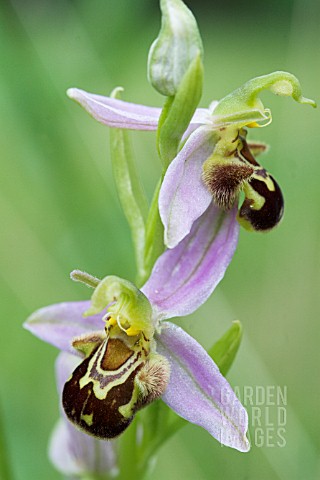
M223 278L238 241L237 208L211 204L191 232L156 261L142 287L160 318L188 315L200 307Z

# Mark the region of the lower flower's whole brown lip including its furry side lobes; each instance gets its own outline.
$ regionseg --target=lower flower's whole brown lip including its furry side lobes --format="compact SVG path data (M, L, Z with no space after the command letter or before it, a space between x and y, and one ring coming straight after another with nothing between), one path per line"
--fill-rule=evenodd
M84 351L90 341L81 338L73 345ZM63 408L73 424L95 437L115 438L139 409L162 395L169 368L149 352L148 342L143 334L133 338L122 331L100 340L63 389Z

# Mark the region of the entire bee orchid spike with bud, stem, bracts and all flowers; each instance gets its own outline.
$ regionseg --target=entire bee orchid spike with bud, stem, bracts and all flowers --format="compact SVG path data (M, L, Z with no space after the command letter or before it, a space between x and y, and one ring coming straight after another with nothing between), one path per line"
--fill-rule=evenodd
M197 108L203 48L196 21L181 0L160 6L148 77L166 97L162 110L122 101L120 88L110 98L68 91L112 127L114 178L137 265L135 284L114 272L99 279L74 270L72 280L93 289L91 300L42 308L25 324L61 351L61 419L50 456L69 478L142 478L161 444L186 421L223 445L250 448L246 411L224 378L240 344L240 324L208 353L169 319L195 312L212 294L232 259L239 223L265 231L282 217L281 190L255 159L265 145L246 139L248 128L271 121L261 91L314 102L302 96L293 75L275 72ZM163 175L150 206L127 129L157 131Z

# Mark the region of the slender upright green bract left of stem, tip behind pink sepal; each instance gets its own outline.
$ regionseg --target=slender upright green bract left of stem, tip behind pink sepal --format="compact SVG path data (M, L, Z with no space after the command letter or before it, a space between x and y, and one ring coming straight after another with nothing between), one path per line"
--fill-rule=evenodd
M113 90L111 98L119 99L121 90ZM113 175L120 204L131 230L138 276L145 276L143 256L148 205L132 158L128 132L111 128L110 147Z

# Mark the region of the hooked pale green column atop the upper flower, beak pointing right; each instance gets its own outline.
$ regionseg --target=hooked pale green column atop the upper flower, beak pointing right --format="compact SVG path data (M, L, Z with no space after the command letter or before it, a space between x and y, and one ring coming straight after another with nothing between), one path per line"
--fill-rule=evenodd
M270 111L264 108L259 98L264 90L316 107L313 100L302 96L300 83L294 75L279 71L253 78L220 100L213 112L215 123L239 126L261 121L270 123Z

